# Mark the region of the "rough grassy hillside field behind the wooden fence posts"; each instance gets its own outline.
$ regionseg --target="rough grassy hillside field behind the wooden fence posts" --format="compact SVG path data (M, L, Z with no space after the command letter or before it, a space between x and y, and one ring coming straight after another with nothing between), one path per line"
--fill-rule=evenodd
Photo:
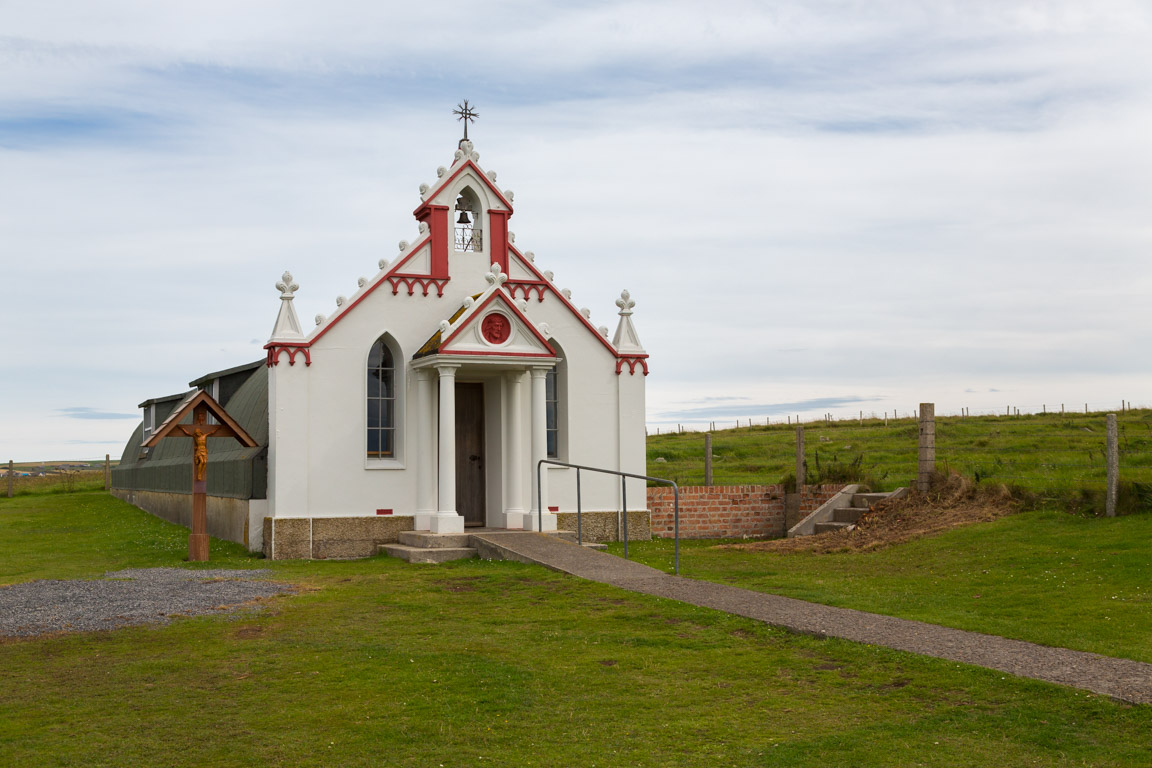
M1117 415L1121 479L1152 484L1152 410ZM857 464L876 491L916 478L915 419L806 424L809 481L836 481ZM937 465L980 481L1018 486L1064 499L1105 482L1105 413L938 417ZM781 482L795 474L796 428L786 425L722 429L712 436L717 485ZM658 462L662 458L662 462ZM704 435L649 435L649 472L681 485L704 482ZM1152 508L1152 497L1137 500Z

